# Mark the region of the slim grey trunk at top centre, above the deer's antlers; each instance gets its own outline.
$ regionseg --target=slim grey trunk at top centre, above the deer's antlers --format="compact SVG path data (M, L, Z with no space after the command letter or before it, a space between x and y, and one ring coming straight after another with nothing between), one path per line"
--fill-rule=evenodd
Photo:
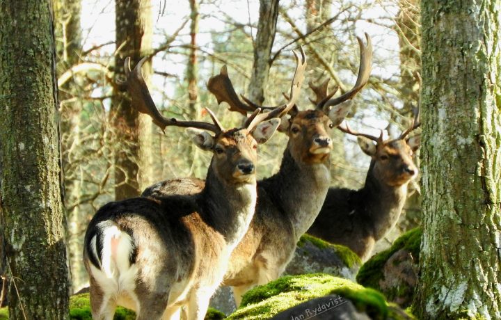
M264 88L268 85L271 48L275 40L279 0L260 0L260 19L254 45L253 74L248 86L248 98L264 102Z

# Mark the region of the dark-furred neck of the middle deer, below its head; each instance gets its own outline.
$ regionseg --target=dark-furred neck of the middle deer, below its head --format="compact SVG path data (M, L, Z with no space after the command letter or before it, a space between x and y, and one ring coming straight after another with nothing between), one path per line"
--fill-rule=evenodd
M298 163L287 148L278 173L258 182L271 195L273 204L291 221L296 240L319 214L331 183L330 170L329 157L323 163Z

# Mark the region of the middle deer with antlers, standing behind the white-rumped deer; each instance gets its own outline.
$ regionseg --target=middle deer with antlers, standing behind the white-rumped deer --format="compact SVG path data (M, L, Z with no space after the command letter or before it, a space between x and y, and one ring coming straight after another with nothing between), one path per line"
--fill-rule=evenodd
M351 109L351 99L369 78L372 61L372 44L368 35L367 47L358 38L360 67L355 86L347 93L331 99L317 101L313 110L285 109L280 131L289 136L280 170L276 175L257 182L257 207L248 232L230 257L223 285L233 287L239 305L241 296L255 285L263 285L280 276L294 255L299 237L308 230L324 203L330 185L330 152L332 141L329 131L339 125ZM234 92L228 72L209 80L211 91L218 102L228 102L230 110L252 112L260 106ZM264 107L274 112L275 109ZM158 198L165 193L202 184L196 179L177 179L150 186L142 196Z

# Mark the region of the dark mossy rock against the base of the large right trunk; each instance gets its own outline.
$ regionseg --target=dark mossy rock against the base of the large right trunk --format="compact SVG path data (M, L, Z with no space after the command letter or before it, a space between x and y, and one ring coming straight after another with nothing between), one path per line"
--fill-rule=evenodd
M385 294L389 301L408 307L417 282L422 230L404 233L388 250L374 255L358 271L360 285Z

